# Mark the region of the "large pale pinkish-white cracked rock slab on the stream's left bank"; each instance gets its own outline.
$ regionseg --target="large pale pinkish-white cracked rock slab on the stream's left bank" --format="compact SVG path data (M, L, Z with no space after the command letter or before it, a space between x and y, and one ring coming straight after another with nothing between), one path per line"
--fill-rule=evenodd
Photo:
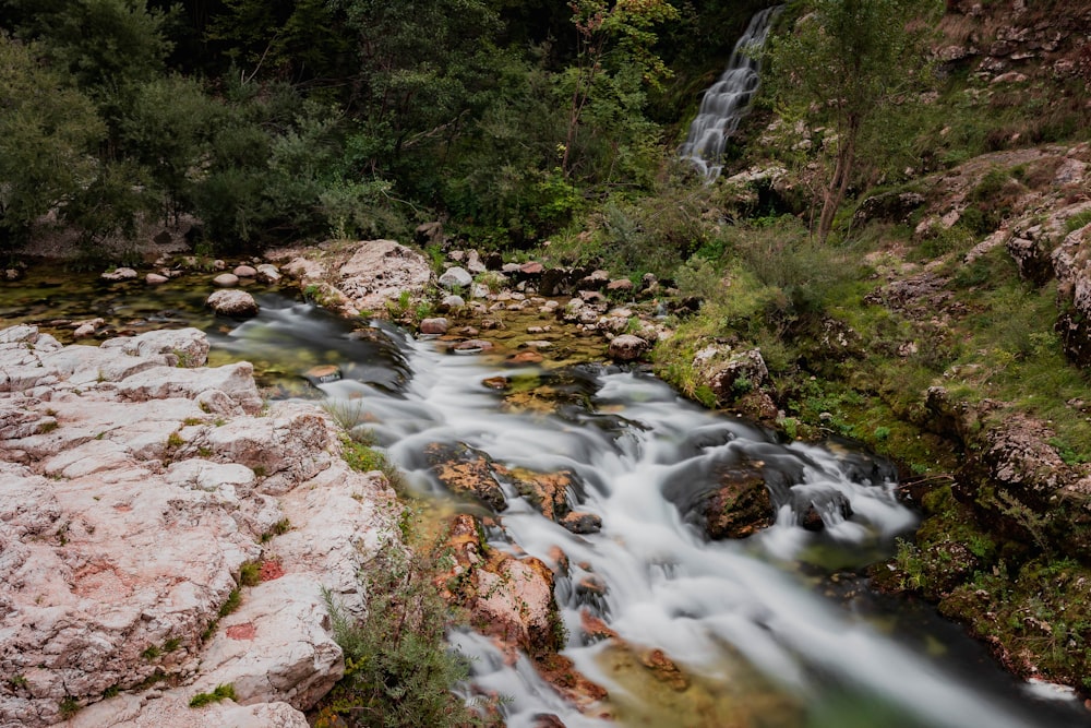
M0 331L0 726L302 727L340 677L323 589L367 609L393 493L207 350Z

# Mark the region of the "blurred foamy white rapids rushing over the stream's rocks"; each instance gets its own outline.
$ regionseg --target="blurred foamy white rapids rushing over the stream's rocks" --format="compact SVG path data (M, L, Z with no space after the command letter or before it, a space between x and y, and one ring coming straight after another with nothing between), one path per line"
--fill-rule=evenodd
M822 546L846 553L870 552L883 545L889 550L891 539L914 525L913 514L896 500L894 484L854 481L846 475L849 461L862 464L864 470L874 464L865 455L777 444L741 420L695 408L647 375L588 375L583 384L591 392L588 405L567 407L562 418L504 410L500 395L481 384L489 377L536 370L490 367L477 358L439 354L429 343L412 344L409 358L415 377L404 397L357 382L324 389L335 397L362 395L380 441L421 488L439 488L419 456L424 445L436 441L465 442L508 466L568 469L583 480L586 498L579 510L601 516L601 533L573 535L508 492L509 509L501 516L504 535L491 545L547 563L553 547L568 557L571 580L559 578L558 586L571 635L565 654L610 691L615 705L623 706L620 725L724 724L716 718L697 723L696 717L656 715L655 706L643 703L644 695L633 694L624 677L615 679L606 643L580 644L579 610L589 605L623 640L640 649L661 648L688 675L710 685L714 695L741 691L738 699L745 703L747 689L740 685L757 683L795 706L789 721L751 716L751 723L738 725L1065 725L1023 714L1019 703L1006 696L978 692L942 664L816 594L814 580L800 569L810 550ZM791 491L843 493L853 515L843 520L835 509L824 515L825 533L815 534L795 525L784 505L777 524L755 537L706 541L663 497L663 484L680 472L687 477L699 474L695 464L733 454L760 460L781 473L802 473L799 482L788 484L794 486ZM858 565L866 561L861 557ZM607 585L598 610L573 588L589 574ZM484 637L461 633L453 642L472 656L476 684L509 699L507 725L532 726L542 713L560 716L571 728L619 725L588 718L565 705L526 659L506 666ZM831 693L840 696L840 703L827 705Z

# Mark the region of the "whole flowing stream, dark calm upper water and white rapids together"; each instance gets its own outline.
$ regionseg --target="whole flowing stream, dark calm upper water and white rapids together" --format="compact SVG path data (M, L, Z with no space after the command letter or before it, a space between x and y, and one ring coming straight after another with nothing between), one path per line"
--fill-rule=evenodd
M564 654L607 688L615 720L566 705L526 658L509 665L489 640L453 635L472 658L478 690L506 696L508 726L533 726L540 714L570 728L1088 725L1072 697L1002 672L931 608L866 588L862 569L889 556L916 518L896 498L892 469L851 443L781 442L680 399L640 371L512 368L499 357L449 354L385 324L353 325L276 294L262 295L260 315L245 322L169 308L169 291L154 296L148 310L175 311L164 325L208 331L213 363L253 360L272 392L351 399L420 491L445 497L421 456L432 442L466 443L508 466L574 474L580 487L570 497L601 517L601 532L568 533L507 492L490 544L547 563L555 563L558 547L567 556L570 571L556 584L570 635ZM35 319L26 306L3 306L5 323ZM316 363L337 366L343 379L309 383L302 374ZM551 406L524 406L527 399L482 384L497 374L526 382ZM777 521L746 539L709 541L675 506L676 494L706 487L719 465L740 462L763 469L780 504ZM820 505L823 529L800 525L801 503ZM597 588L584 587L588 578ZM627 646L585 644L584 610ZM686 682L651 678L642 665L651 649L673 660Z

